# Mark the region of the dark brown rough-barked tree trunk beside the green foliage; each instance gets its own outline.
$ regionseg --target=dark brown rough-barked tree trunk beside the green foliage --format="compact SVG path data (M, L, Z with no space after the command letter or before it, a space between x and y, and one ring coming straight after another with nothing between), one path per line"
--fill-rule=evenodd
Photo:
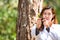
M29 26L29 1L19 0L18 2L18 18L16 24L17 37L16 40L30 40Z

